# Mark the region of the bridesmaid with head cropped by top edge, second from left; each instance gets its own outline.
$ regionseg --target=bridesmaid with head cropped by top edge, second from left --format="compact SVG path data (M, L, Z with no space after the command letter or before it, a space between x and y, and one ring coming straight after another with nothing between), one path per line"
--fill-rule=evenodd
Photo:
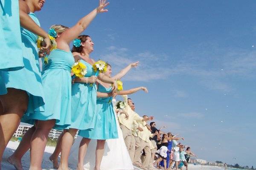
M8 4L10 3L4 4L4 8L7 6L6 11L8 11ZM1 5L3 5L3 0L1 0ZM17 1L13 0L12 5L17 6ZM41 49L42 51L48 52L51 48L51 43L48 34L40 28L39 21L34 14L35 11L40 11L43 5L44 0L19 1L20 25L22 26L20 28L22 62L24 68L17 71L0 71L0 84L3 84L7 89L7 91L5 88L0 89L0 101L2 104L2 109L0 109L0 160L6 144L11 139L25 111L33 112L44 105L42 79L38 64L38 48L36 45L38 35L44 38L46 44ZM15 17L15 13L14 11L13 17ZM15 39L16 37L13 38ZM13 59L12 63L15 62L16 59ZM12 123L9 120L12 120Z

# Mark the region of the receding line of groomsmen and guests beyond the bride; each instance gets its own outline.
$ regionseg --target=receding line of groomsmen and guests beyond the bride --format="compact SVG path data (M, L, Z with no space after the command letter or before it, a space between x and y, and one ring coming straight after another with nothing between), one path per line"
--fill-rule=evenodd
M123 96L128 107L123 111L128 113L119 116L119 123L122 129L126 147L134 165L142 169L151 169L154 164L165 170L170 169L174 164L176 170L182 169L183 165L188 169L190 156L196 156L191 152L189 146L184 146L171 132L163 132L163 128L157 129L155 122L148 121L154 119L152 116L140 117L135 112L135 104L132 99Z

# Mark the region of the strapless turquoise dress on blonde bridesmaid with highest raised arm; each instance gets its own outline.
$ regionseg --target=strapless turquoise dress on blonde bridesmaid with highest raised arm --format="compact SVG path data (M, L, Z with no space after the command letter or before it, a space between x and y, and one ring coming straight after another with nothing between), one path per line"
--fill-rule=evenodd
M48 64L44 65L42 72L45 105L44 108L40 107L39 113L23 116L30 119L26 123L33 125L35 120L56 119L55 129L71 125L70 71L74 63L71 51L55 49L49 54Z

